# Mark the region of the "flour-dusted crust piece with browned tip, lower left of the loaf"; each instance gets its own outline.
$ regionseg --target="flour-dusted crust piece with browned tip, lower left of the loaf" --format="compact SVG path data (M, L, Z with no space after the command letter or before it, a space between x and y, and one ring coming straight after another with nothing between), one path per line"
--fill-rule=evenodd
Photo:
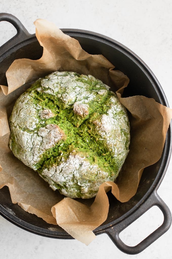
M12 151L24 164L34 170L37 170L36 163L39 162L40 156L45 150L55 146L59 140L65 138L64 132L55 124L41 127L33 133L24 131L17 125L15 128L13 127L11 127L11 131L15 135L17 145L12 148ZM10 147L11 141L10 138Z

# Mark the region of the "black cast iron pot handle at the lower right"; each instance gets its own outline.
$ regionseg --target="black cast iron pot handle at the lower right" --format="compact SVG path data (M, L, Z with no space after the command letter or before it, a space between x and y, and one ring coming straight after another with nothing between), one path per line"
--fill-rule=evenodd
M149 210L152 206L158 206L163 213L164 221L162 225L157 228L153 233L147 236L143 241L141 241L136 246L127 246L119 238L119 234L126 227L132 224L136 219L138 219L142 214ZM138 209L126 219L120 221L117 225L106 229L106 233L109 235L113 243L126 254L138 254L157 240L161 235L163 235L171 225L171 212L168 206L159 197L156 191L154 191L151 196L146 200Z

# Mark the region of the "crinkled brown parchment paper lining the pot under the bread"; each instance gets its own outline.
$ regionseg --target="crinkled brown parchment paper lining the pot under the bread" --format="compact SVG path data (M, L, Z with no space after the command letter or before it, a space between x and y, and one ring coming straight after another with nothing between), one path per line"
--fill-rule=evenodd
M107 219L106 192L111 190L119 201L127 202L137 191L143 169L160 159L172 110L144 96L122 98L129 79L113 70L114 66L105 57L86 53L77 40L46 20L38 19L34 24L43 56L39 60L15 60L6 72L8 87L1 85L0 188L7 185L13 203L48 223L58 224L74 238L89 244L95 238L92 231ZM29 82L57 70L91 74L113 85L120 102L130 112L131 144L127 159L116 183L103 183L91 206L53 192L36 172L14 157L8 147L8 118L15 100L29 87Z

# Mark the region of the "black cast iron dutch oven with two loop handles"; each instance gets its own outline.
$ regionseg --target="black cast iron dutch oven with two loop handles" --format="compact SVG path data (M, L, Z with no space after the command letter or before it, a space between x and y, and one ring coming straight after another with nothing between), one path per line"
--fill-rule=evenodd
M35 34L29 34L16 17L1 13L0 21L8 21L17 29L17 34L0 47L0 84L6 85L5 72L15 59L39 59L42 56L43 49L39 45ZM130 83L123 96L129 96L128 92L130 92L130 95L132 93L132 95L151 97L168 106L166 96L157 78L149 67L128 48L113 39L94 32L76 29L62 29L62 31L77 39L88 53L105 56L116 69L121 70L129 77ZM171 125L167 132L161 159L144 169L136 195L128 202L120 203L117 200L114 202L114 196L111 192L108 193L110 203L108 218L93 231L95 235L107 233L121 251L127 254L137 254L169 229L171 213L167 205L158 196L157 189L166 173L170 155ZM124 244L119 238L119 233L154 205L157 205L164 215L163 224L136 246L130 247ZM12 214L10 211L14 213ZM59 226L47 224L43 219L29 214L17 204L12 204L9 189L6 186L0 190L0 213L13 224L32 233L51 238L72 238Z

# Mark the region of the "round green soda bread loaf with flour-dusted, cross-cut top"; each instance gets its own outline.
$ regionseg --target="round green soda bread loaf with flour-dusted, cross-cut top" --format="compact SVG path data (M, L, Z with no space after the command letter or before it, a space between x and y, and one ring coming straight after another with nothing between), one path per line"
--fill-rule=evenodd
M92 198L114 181L128 154L127 111L91 75L53 72L16 101L10 117L13 154L71 198Z

